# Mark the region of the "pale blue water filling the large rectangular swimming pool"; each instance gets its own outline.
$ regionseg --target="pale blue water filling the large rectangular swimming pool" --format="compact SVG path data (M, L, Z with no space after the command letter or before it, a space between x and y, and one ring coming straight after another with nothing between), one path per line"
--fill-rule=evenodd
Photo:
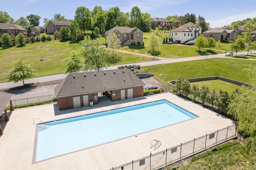
M166 101L45 123L36 143L36 162L185 121L196 115Z

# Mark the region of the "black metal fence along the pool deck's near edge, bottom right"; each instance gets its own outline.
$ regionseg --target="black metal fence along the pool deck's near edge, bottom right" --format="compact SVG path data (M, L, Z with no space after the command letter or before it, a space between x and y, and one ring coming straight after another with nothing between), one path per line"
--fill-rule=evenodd
M152 170L162 168L236 137L236 125L195 138L175 147L161 150L109 170Z

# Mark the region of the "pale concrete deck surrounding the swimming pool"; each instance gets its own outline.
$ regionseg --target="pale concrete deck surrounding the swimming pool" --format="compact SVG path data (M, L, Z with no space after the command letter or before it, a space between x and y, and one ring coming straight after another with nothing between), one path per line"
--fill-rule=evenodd
M40 119L42 122L47 122L110 110L116 106L132 106L162 99L166 99L199 117L142 133L137 135L137 137L134 135L104 145L33 163L34 139L36 134L36 125L33 124L34 118ZM9 114L10 121L5 125L4 134L0 137L0 169L6 170L109 169L148 156L150 150L152 150L150 149L150 142L154 139L161 141L162 145L158 149L152 150L152 153L234 124L234 121L227 117L171 93L157 94L148 97L144 96L116 102L104 102L104 100L101 100L98 105L94 105L93 107L86 106L63 111L58 110L58 104L56 103L46 104L15 109L12 113L9 112ZM36 122L39 123L38 121Z

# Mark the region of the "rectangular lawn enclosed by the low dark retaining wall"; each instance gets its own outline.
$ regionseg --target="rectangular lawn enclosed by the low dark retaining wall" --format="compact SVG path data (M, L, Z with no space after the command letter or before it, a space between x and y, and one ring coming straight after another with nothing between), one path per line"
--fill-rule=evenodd
M203 85L208 86L210 91L215 89L216 92L219 92L219 90L221 89L221 90L226 90L228 93L232 92L234 89L239 87L236 84L232 84L232 83L229 83L229 82L224 82L222 80L209 80L209 81L190 83L191 86L193 84L197 85L199 88L201 88Z

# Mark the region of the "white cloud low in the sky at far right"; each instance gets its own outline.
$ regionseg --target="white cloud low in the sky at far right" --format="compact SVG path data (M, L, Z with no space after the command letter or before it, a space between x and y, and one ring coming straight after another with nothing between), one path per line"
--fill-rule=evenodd
M211 28L216 27L223 27L224 25L230 25L234 21L241 21L245 20L246 18L255 18L256 17L256 11L248 12L244 14L237 14L233 16L227 16L225 18L219 19L219 20L206 20L206 22L210 23Z

